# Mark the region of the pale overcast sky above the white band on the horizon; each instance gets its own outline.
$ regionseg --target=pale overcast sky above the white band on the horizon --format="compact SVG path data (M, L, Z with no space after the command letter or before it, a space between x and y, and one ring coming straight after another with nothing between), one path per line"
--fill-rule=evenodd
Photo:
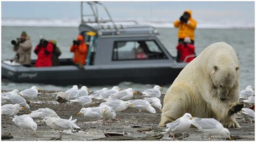
M254 2L103 2L113 18L177 19L186 9L195 19L254 23ZM104 16L103 16L104 17ZM79 19L80 2L2 2L2 18Z

